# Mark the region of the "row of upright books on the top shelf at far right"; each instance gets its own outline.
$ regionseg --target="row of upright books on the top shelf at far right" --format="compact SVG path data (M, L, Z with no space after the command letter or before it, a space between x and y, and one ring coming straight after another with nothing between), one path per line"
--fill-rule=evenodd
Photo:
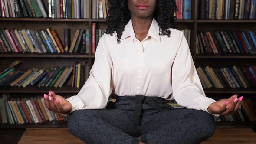
M256 0L200 0L200 19L255 19Z

